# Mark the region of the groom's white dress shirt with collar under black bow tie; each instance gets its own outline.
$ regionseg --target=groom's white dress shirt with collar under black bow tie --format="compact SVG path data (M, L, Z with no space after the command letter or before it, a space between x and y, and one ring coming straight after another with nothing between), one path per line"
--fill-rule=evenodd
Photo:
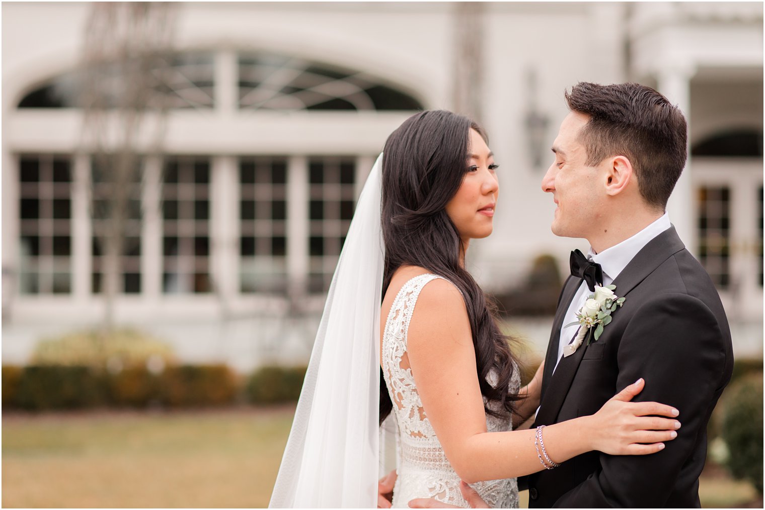
M637 252L643 250L643 247L649 243L657 235L666 231L672 224L669 223L669 215L665 212L664 215L658 220L649 224L642 231L633 235L627 240L623 240L616 246L612 246L607 250L601 251L601 253L595 253L590 247L587 258L593 262L601 264L603 269L603 285L608 286L614 279L619 276L619 273L627 267L630 260L637 255ZM561 328L561 336L558 338L558 361L555 362L555 368L558 368L561 357L563 356L563 347L571 343L571 339L577 333L579 329L579 322L576 318L576 312L579 311L587 301L588 296L591 295L590 289L588 289L587 282L582 280L581 286L574 295L574 299L571 299L571 305L568 306L568 311L563 318L563 328ZM614 290L614 293L621 297L619 289ZM571 324L576 322L576 324ZM566 327L567 324L571 324ZM555 368L553 371L555 371Z

